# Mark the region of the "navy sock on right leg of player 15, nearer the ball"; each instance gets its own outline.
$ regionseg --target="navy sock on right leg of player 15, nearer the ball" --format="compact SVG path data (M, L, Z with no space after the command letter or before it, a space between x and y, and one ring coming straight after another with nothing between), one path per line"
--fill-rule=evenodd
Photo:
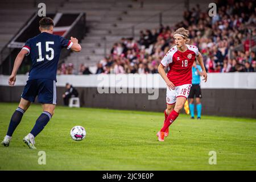
M30 133L36 137L36 135L38 135L44 129L51 118L52 115L50 113L43 111L43 113L36 120L35 126L30 131Z

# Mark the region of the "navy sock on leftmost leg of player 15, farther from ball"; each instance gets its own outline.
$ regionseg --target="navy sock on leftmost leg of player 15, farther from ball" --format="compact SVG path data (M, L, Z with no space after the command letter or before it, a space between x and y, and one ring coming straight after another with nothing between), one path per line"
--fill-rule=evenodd
M7 131L6 135L8 135L9 137L13 136L14 130L19 125L19 123L20 123L20 121L23 117L24 112L25 111L23 109L21 109L20 107L18 107L14 111L13 116L11 117L11 121L10 121L9 128L8 128L8 131Z

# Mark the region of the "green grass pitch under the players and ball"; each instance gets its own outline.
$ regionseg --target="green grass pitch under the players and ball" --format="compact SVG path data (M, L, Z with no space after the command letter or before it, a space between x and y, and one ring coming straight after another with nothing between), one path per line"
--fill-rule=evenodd
M0 104L1 141L17 104ZM57 106L55 115L30 150L23 137L42 109L32 105L9 147L0 146L0 170L256 170L256 119L212 117L200 121L180 114L170 136L158 142L164 114ZM73 126L85 127L86 138L71 139ZM39 165L39 151L46 164ZM217 164L209 164L216 151Z

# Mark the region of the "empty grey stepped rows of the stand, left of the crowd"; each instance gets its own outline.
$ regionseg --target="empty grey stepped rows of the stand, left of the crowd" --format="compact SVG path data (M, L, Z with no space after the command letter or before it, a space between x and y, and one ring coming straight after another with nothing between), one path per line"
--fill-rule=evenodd
M142 3L143 2L143 3ZM208 1L197 1L208 7ZM195 3L195 2L193 2ZM175 7L175 8L174 8ZM139 38L139 32L145 28L159 27L159 15L162 23L173 25L182 20L183 1L79 1L65 3L60 11L77 9L86 12L89 32L82 40L82 51L71 55L65 63L72 63L79 72L79 65L94 67L99 60L109 54L113 44L123 37ZM170 11L171 10L171 11ZM134 28L133 28L134 27ZM67 65L66 64L66 65ZM63 66L64 67L64 66ZM96 71L96 68L93 69Z

